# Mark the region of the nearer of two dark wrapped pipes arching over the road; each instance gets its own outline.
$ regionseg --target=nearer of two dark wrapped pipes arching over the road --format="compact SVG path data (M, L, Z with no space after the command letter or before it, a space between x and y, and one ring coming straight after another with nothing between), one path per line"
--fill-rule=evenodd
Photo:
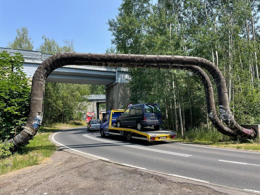
M229 109L226 81L218 67L216 67L208 60L199 57L188 56L153 56L62 52L53 55L43 61L35 71L32 79L31 107L27 123L22 132L20 132L13 139L10 139L8 141L9 143L13 143L14 148L26 144L38 131L39 124L42 120L42 100L44 96L44 85L46 78L53 70L71 64L164 69L173 69L173 64L202 67L208 70L208 72L214 78L215 84L217 85L218 104L221 119L236 134L249 139L255 137L255 132L253 130L242 128L234 120L234 117ZM209 116L211 116L211 113L209 114Z

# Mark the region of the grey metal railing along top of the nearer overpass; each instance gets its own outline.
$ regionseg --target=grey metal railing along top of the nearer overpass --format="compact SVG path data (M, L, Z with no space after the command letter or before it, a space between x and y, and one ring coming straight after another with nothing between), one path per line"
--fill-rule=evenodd
M47 54L47 53L42 53L40 51L29 51L29 50L23 50L23 49L11 49L11 48L4 48L0 47L0 52L6 51L7 53L10 54L10 56L14 56L15 53L20 53L23 55L23 59L25 60L38 60L43 62L50 56L53 56L53 54ZM87 67L98 67L100 66L93 66L93 65L84 65ZM102 66L103 68L104 66ZM105 67L105 68L110 68L110 69L116 69L116 67Z

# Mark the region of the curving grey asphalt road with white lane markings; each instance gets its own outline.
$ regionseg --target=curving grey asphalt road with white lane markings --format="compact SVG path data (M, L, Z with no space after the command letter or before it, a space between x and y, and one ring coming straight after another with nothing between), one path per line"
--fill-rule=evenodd
M137 168L260 193L260 152L174 142L125 141L124 137L68 129L52 136L72 150Z

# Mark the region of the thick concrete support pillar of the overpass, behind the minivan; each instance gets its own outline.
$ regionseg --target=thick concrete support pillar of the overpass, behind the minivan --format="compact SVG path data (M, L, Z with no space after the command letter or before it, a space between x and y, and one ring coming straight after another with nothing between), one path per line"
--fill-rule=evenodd
M106 87L106 110L125 109L130 103L127 83L112 83Z

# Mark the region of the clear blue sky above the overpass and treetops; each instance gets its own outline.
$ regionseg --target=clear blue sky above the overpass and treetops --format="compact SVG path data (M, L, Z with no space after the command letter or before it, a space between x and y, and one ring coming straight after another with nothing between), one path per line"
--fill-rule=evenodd
M0 47L13 41L16 29L27 27L34 50L44 34L60 46L74 39L76 52L105 53L113 38L108 19L115 18L122 0L0 0Z

